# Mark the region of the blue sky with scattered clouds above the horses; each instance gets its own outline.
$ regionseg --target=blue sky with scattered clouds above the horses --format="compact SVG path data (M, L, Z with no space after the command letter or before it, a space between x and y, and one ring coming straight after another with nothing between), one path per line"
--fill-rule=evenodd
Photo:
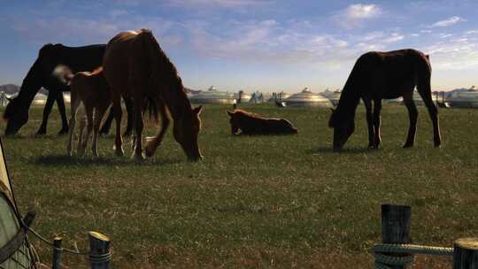
M434 89L478 84L478 1L0 0L0 84L20 84L46 42L108 42L147 27L189 88L342 88L369 50L431 56Z

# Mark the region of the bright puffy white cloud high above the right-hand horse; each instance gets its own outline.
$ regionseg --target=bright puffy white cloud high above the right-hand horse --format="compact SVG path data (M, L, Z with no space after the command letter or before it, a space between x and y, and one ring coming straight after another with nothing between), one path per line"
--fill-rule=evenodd
M382 8L376 4L351 4L333 16L335 22L346 29L361 27L366 19L382 15Z

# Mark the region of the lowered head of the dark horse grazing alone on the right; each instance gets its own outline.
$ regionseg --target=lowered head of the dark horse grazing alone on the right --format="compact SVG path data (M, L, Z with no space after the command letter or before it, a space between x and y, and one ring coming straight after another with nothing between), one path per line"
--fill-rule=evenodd
M328 121L328 127L334 128L334 151L342 150L343 145L355 130L353 117L343 117L338 111L332 109L332 115Z

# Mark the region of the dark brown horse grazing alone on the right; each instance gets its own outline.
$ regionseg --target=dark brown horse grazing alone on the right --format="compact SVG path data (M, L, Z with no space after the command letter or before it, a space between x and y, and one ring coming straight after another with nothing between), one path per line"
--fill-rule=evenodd
M368 52L358 58L349 79L343 87L339 104L333 110L329 127L334 128L334 150L341 150L355 129L355 111L360 98L366 106L368 146L378 148L382 141L380 124L382 99L404 97L410 128L404 148L413 146L417 129L418 111L413 102L416 87L428 108L433 123L435 147L441 144L438 111L433 104L430 88L431 65L428 55L418 50ZM374 101L374 112L372 112Z

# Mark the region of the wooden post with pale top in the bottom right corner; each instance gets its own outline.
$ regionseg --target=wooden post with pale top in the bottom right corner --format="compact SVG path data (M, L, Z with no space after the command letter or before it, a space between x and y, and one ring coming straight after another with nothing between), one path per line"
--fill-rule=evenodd
M459 238L455 241L453 269L478 269L478 238Z

